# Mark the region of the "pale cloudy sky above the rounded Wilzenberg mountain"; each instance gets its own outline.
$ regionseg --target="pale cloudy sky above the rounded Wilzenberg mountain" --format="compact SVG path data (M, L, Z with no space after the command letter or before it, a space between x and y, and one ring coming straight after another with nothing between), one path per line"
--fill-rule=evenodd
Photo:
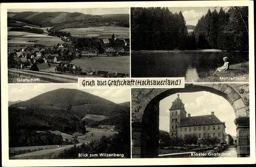
M59 89L78 89L77 84L14 84L8 85L8 101L26 101L39 94ZM80 88L78 90L94 94L114 103L130 102L130 89L128 88Z

